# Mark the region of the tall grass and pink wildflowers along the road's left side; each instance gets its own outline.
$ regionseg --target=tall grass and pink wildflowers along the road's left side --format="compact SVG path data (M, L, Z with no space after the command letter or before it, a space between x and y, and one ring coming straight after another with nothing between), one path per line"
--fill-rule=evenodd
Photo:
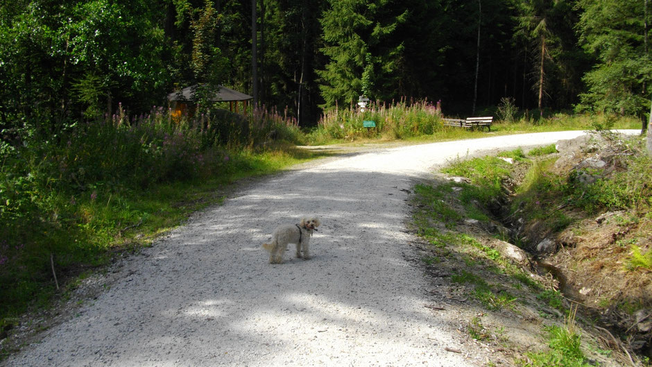
M2 142L0 318L46 300L56 285L53 273L61 280L104 264L110 248L132 241L130 229L155 232L179 223L185 207L201 203L174 201L194 201L189 196L206 182L289 162L288 153L266 144L272 133L275 142L301 137L296 123L277 112L178 117L155 108L129 116L119 108L58 136Z

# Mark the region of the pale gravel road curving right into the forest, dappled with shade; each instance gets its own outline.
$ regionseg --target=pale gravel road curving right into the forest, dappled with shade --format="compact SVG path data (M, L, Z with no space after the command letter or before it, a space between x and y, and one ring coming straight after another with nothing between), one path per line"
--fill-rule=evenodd
M424 307L406 191L456 156L582 134L388 148L262 180L130 257L110 289L2 366L481 366L488 351L465 345L454 310ZM314 258L268 264L261 244L301 214L323 223Z

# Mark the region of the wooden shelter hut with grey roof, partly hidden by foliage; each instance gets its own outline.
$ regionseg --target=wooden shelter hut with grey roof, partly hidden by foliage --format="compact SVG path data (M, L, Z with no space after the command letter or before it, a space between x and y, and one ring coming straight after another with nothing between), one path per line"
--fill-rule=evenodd
M190 87L181 89L179 92L168 94L168 101L172 108L173 116L180 117L186 112L189 114L194 112L193 101L197 87L198 85L191 85ZM240 110L238 103L242 102L242 111L245 112L249 100L253 98L253 96L248 94L238 92L237 90L227 88L223 85L218 85L217 92L215 92L215 96L211 100L215 102L228 102L229 110L231 112L239 113Z

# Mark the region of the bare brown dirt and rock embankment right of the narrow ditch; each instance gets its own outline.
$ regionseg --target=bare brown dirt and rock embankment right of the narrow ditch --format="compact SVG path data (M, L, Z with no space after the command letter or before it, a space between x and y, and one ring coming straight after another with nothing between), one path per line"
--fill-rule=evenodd
M556 148L559 153L549 173L585 187L577 200L585 199L590 186L600 179L629 169L633 156L644 154L608 135L560 141ZM617 197L617 193L605 195ZM554 275L558 289L580 305L598 327L610 330L628 350L652 358L652 271L633 264L635 253L652 250L649 209L639 205L608 211L597 205L587 212L579 210L571 196L558 198L556 203L549 216L569 222L563 230L551 228L551 221L528 219L525 212L517 211L506 220L512 237L526 244L539 271Z

